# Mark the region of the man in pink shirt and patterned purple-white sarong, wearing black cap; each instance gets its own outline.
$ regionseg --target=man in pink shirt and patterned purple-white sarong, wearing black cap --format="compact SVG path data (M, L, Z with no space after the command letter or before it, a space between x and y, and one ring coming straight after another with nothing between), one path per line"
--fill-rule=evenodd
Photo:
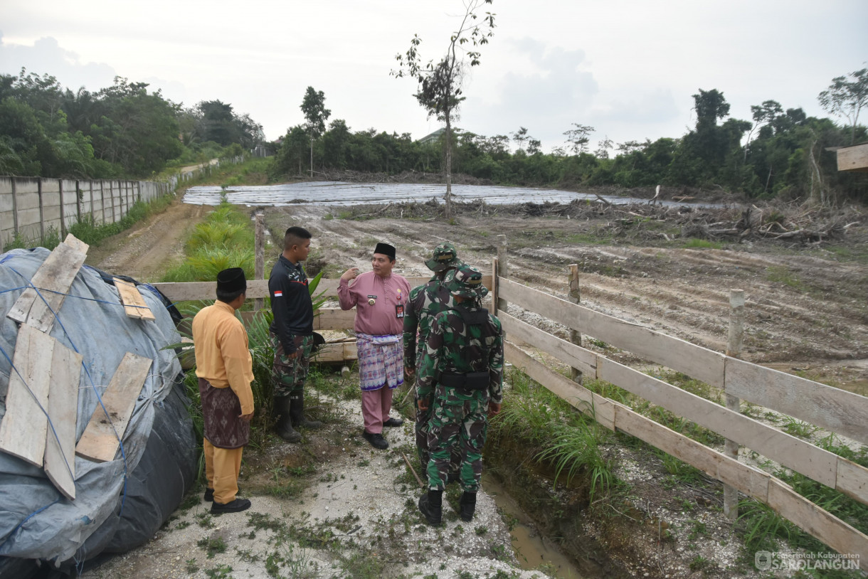
M404 384L404 308L410 283L391 273L395 247L378 243L371 260L372 271L358 273L351 267L340 276L338 299L342 310L356 307L358 376L362 388L365 437L374 448L389 448L384 426L400 426L401 418L389 418L391 389ZM350 286L350 280L355 282ZM388 387L385 387L388 386Z

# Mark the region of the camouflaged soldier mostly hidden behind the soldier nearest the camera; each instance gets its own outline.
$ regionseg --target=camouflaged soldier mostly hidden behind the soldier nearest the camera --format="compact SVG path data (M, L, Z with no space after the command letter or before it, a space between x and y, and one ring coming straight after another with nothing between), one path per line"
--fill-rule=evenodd
M434 275L431 276L431 280L428 280L427 283L414 287L410 292L407 313L404 316L404 373L408 379L416 374L418 362L422 358L425 339L428 338L428 332L431 329L431 322L434 317L438 313L444 312L454 306L447 286L452 280L457 267L463 265L464 262L458 259L455 246L449 242L437 245L432 252L431 259L425 261L425 266L428 266L428 269L434 272ZM428 400L426 405L431 407L431 400ZM416 449L423 472L428 468L428 448L426 442L428 418L428 412L417 410ZM457 479L457 465L458 457L456 455L453 457L451 463L450 482Z

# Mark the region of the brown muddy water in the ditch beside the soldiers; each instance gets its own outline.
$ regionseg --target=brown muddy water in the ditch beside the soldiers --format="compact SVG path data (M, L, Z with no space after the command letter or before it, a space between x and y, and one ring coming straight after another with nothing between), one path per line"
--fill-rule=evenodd
M518 520L513 530L512 549L516 553L516 559L522 569L540 569L541 565L547 565L547 571L553 571L558 579L588 579L588 576L579 574L579 570L567 556L561 554L556 545L536 534L533 529L533 521L522 510L518 503L499 484L495 477L490 477L483 472L483 489L494 497L497 506L505 513Z

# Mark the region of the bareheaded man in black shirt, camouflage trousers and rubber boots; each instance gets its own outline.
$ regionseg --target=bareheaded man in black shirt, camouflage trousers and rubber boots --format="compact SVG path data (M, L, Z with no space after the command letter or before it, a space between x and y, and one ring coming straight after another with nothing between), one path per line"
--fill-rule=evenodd
M274 314L268 328L274 346L274 400L277 433L287 442L299 442L298 428L319 428L319 421L305 418L305 378L313 345L313 304L307 274L301 262L311 249L311 234L290 227L283 238L283 253L268 278Z

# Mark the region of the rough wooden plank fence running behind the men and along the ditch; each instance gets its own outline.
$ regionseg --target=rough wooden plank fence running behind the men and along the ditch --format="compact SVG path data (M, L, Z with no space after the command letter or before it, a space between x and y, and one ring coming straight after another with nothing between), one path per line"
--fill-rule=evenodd
M505 252L503 254L505 255ZM800 496L783 481L763 470L740 463L737 457L714 451L672 431L626 405L584 388L575 380L549 369L521 346L529 345L561 360L574 368L579 376L598 378L617 385L866 504L868 469L760 423L739 411L700 398L573 343L581 340L559 339L517 319L502 308L509 303L537 313L567 326L574 335L581 333L601 339L643 359L652 360L717 386L731 397L749 400L799 418L861 444L868 444L868 429L865 427L865 424L868 424L868 398L754 365L595 312L575 303L577 297L573 301L567 301L509 280L501 275L503 270L503 265L494 260L493 275L485 276L483 283L492 290L495 304L493 309L508 338L504 346L505 358L512 365L608 429L640 438L746 496L766 503L780 516L786 517L839 553L857 554L863 561L868 560L868 536ZM411 286L416 286L428 278L408 280ZM577 283L577 280L570 281ZM325 290L326 297L334 297L337 295L338 282L339 280L321 280L319 289ZM165 283L155 286L173 301L214 299L214 282ZM266 280L248 282L248 298L264 299L267 296ZM322 308L315 319L315 329L351 328L354 315L352 310L344 312L339 308ZM333 352L333 357L337 358L348 352L346 345L339 347L342 349Z

